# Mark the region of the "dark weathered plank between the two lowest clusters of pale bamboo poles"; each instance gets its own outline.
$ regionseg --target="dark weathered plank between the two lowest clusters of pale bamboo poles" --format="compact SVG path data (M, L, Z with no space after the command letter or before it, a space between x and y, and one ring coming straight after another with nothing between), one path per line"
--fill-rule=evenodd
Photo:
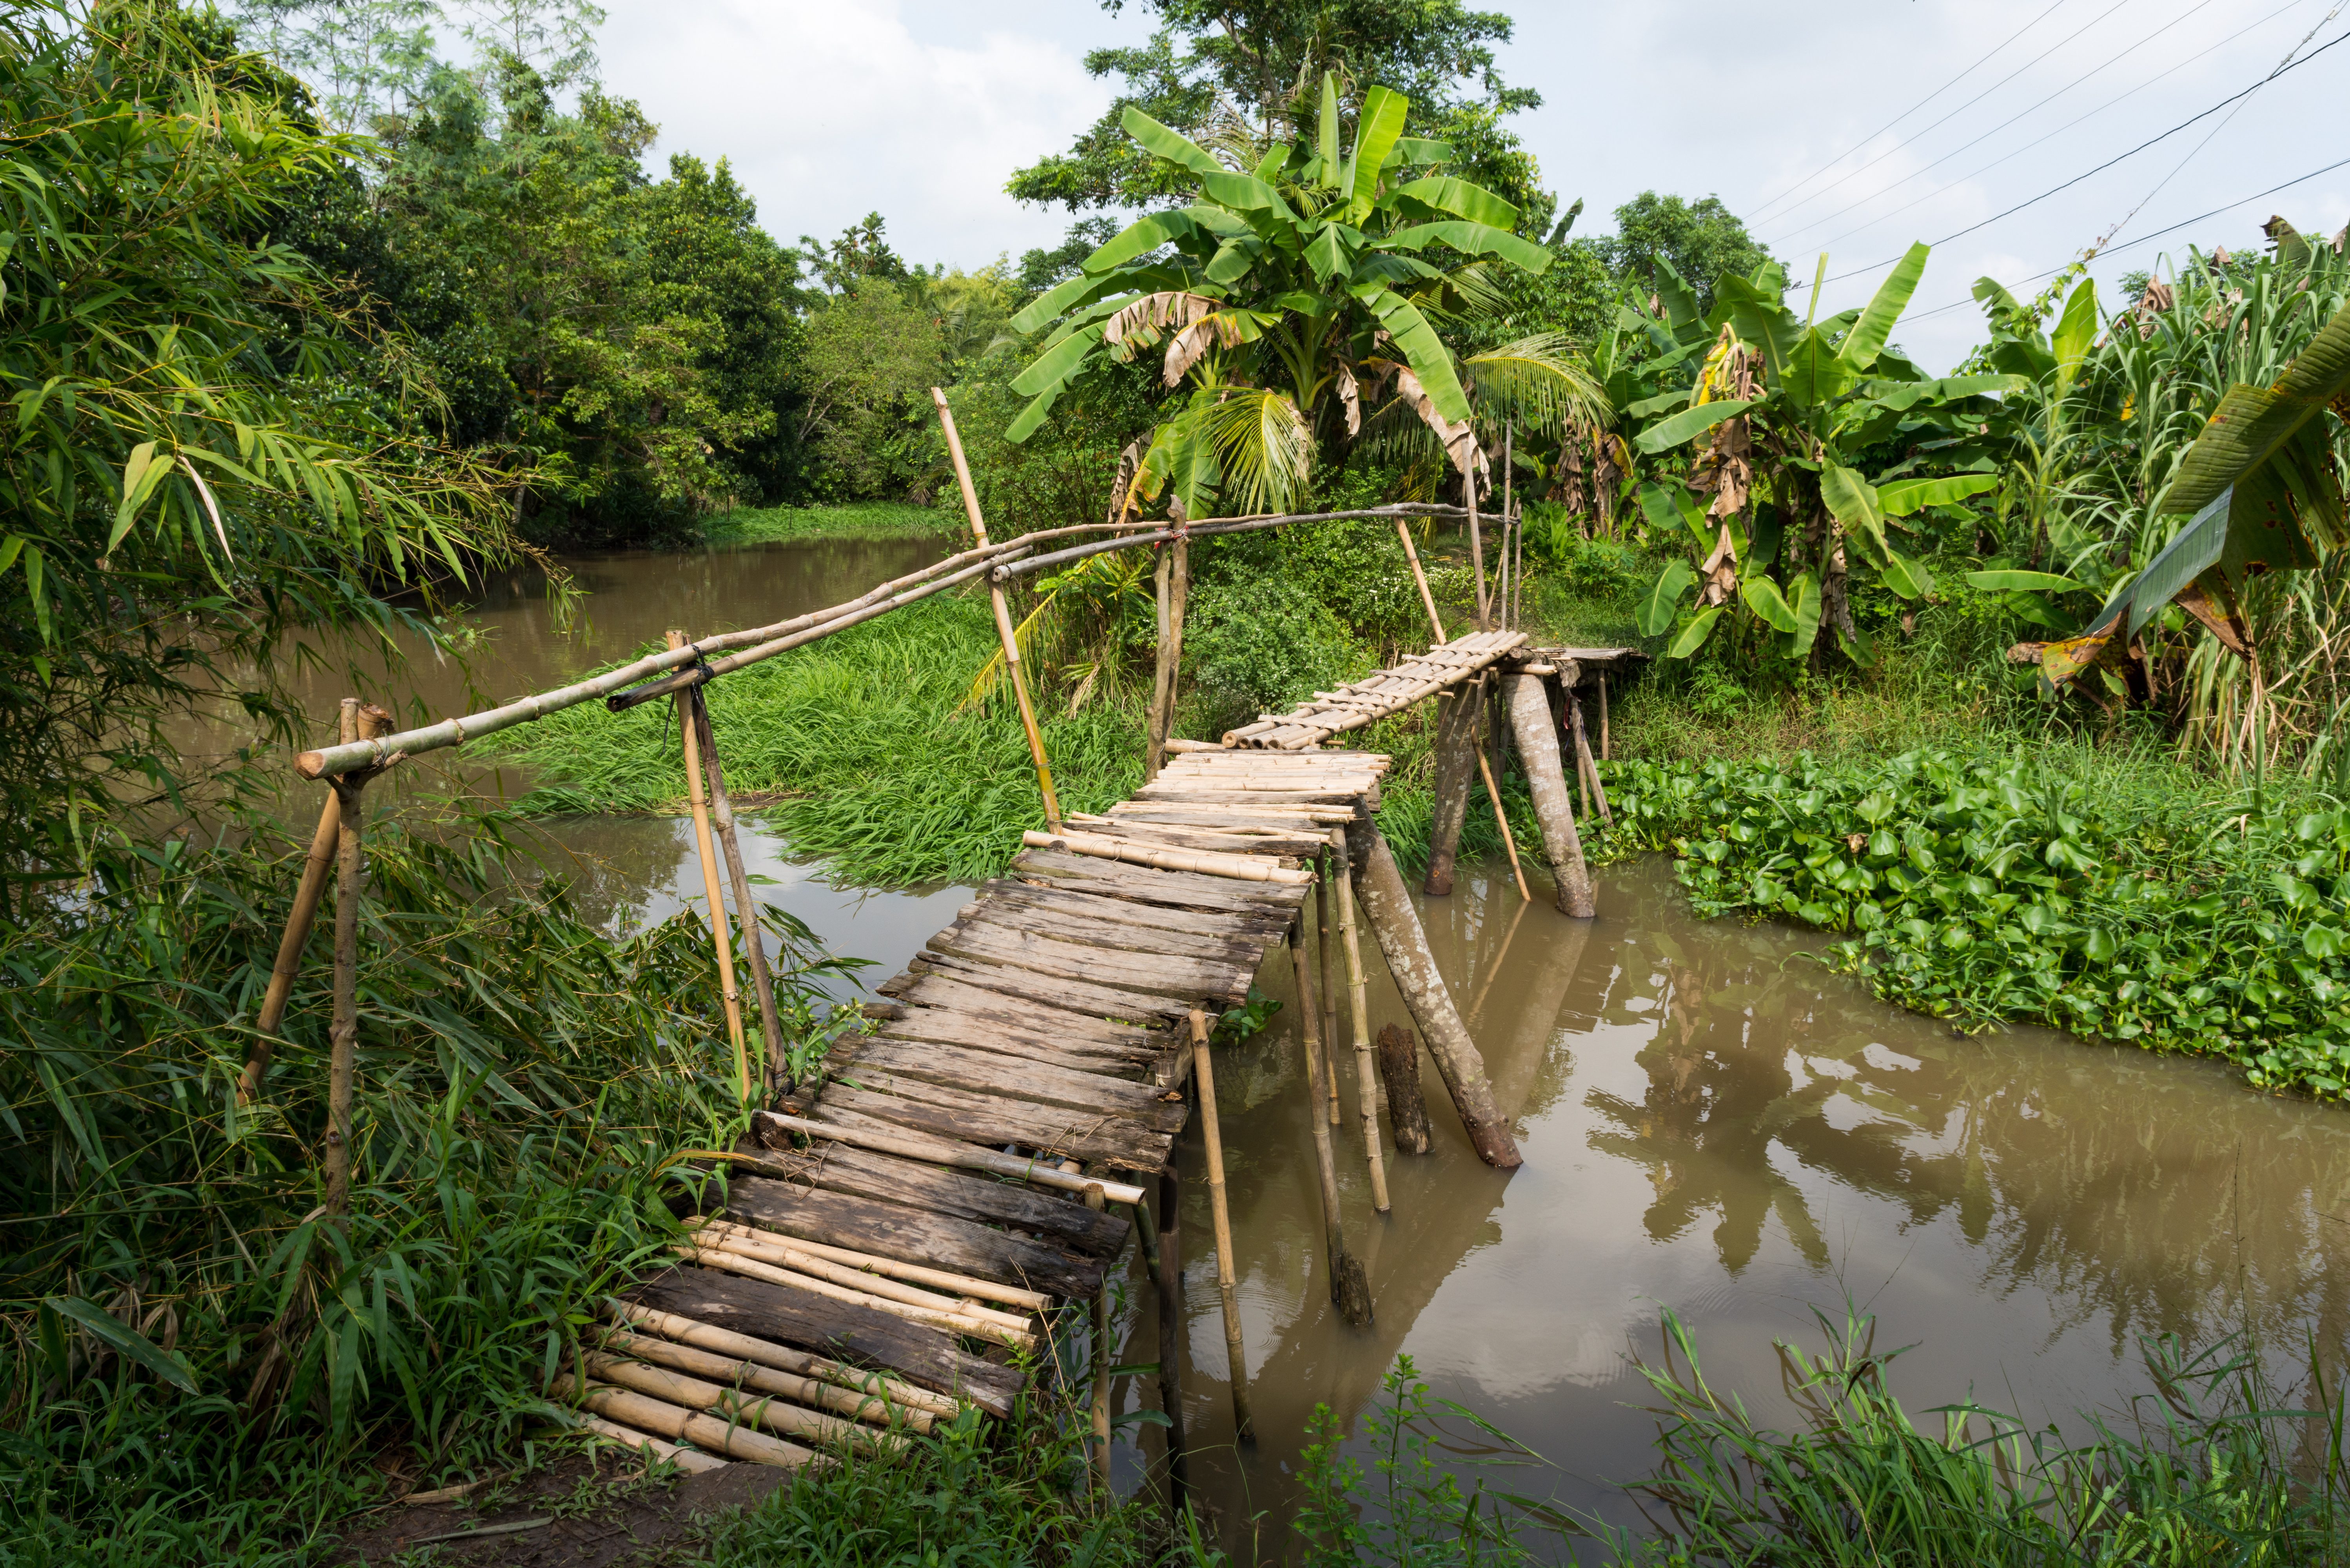
M1020 1396L1018 1368L973 1356L954 1335L811 1291L679 1267L639 1281L627 1298L698 1324L877 1366L912 1385L971 1399L994 1415L1010 1415Z

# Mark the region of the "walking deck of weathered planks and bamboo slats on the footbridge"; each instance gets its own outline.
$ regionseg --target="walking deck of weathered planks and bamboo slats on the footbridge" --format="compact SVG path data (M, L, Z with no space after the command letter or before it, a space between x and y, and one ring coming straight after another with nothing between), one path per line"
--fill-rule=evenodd
M1403 691L1424 696L1464 679L1518 639L1466 656L1455 644L1441 649L1443 661L1408 661L1394 679L1349 691L1377 686L1377 701L1401 705ZM872 1441L872 1415L830 1427L811 1420L841 1408L844 1382L900 1401L886 1403L900 1415L919 1401L996 1415L1013 1408L1022 1373L1008 1342L1022 1331L1008 1324L1025 1321L1027 1333L1043 1326L1006 1316L1006 1300L1043 1300L1043 1312L1086 1302L1133 1229L1121 1206L1088 1208L1079 1192L1039 1182L1034 1171L1053 1171L1058 1182L1130 1185L1166 1166L1191 1114L1187 1013L1246 999L1311 891L1302 879L1238 872L1302 865L1332 825L1377 799L1386 757L1304 750L1311 743L1288 738L1274 745L1170 757L1133 799L1072 818L1067 839L1020 853L905 973L874 987L865 1032L834 1046L825 1081L776 1103L827 1135L794 1147L785 1124L754 1117L754 1138L726 1161L724 1197L712 1190L700 1199L700 1222L717 1229L698 1229L677 1267L634 1286L616 1307L630 1316L625 1333L590 1347L592 1380L634 1389L606 1399L606 1422L620 1425L604 1429L630 1432L625 1413L637 1410L684 1434L665 1441L693 1441L705 1418L757 1418L792 1441L728 1455L797 1465L827 1443ZM1109 844L1121 858L1104 853ZM1093 853L1079 853L1086 846ZM1126 858L1161 849L1227 875ZM1001 1168L1006 1154L1029 1180L968 1168ZM1072 1168L1065 1161L1076 1178L1058 1175ZM956 1298L940 1279L961 1279L980 1295ZM698 1338L679 1352L653 1342L665 1331ZM710 1345L747 1356L743 1366L787 1371L745 1373L724 1392L658 1371L710 1371ZM804 1366L818 1371L792 1371ZM660 1389L689 1403L698 1392L721 1399L656 1408L649 1401ZM745 1415L754 1389L776 1408Z

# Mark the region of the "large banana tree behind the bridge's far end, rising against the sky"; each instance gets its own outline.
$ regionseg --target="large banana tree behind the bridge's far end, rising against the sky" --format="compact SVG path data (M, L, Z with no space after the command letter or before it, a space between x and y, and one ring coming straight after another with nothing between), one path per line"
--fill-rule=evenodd
M1480 449L1452 350L1431 320L1490 294L1483 268L1542 273L1551 252L1520 240L1518 209L1443 174L1452 148L1403 134L1410 101L1372 87L1354 143L1321 85L1311 143L1274 146L1253 169L1224 167L1137 108L1135 143L1196 190L1093 252L1013 329L1053 327L1013 378L1029 397L1008 440L1027 440L1062 390L1104 357L1163 343L1168 388L1191 383L1137 465L1130 496L1173 491L1198 517L1217 498L1285 508L1323 440L1363 428L1391 388L1471 473Z

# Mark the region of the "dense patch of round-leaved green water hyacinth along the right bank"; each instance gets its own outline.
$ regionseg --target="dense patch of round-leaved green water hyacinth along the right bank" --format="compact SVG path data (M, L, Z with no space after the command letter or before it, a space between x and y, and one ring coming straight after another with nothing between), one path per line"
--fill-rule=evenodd
M2350 809L2326 797L2146 799L1950 752L1605 773L1619 844L1678 856L1699 912L1849 933L1828 961L1887 1001L2350 1086Z

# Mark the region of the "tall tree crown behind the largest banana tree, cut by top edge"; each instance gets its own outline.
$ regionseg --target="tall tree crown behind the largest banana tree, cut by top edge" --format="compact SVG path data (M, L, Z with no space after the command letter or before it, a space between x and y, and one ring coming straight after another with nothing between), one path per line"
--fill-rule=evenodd
M1144 207L1182 195L1175 169L1126 136L1126 110L1140 110L1208 148L1248 143L1243 162L1267 146L1314 134L1314 85L1335 75L1354 108L1370 82L1386 82L1415 103L1410 129L1452 141L1462 172L1549 219L1539 172L1502 120L1539 108L1542 94L1506 87L1495 45L1509 42L1502 12L1473 12L1462 0L1140 0L1159 28L1142 45L1095 49L1086 71L1119 75L1109 110L1067 153L1013 174L1006 190L1022 202ZM1102 0L1119 14L1126 0Z

